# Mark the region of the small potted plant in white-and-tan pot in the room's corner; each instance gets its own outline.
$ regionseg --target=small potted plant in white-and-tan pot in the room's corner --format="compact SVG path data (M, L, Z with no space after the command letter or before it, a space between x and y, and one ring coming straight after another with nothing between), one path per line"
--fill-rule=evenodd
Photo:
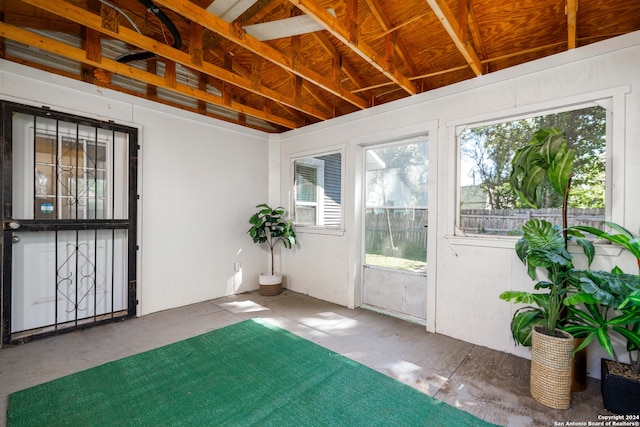
M282 274L276 274L274 249L281 243L290 249L296 244L296 233L291 220L285 218L283 207L272 208L262 203L256 206L258 212L251 215L251 228L247 231L254 243L266 243L271 251L271 273L260 274L259 292L261 295L278 295L282 292Z

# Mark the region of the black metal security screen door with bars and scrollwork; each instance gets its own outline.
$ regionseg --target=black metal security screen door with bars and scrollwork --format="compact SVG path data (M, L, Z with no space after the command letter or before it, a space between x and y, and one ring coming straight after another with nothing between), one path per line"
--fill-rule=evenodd
M137 130L2 103L2 343L136 314Z

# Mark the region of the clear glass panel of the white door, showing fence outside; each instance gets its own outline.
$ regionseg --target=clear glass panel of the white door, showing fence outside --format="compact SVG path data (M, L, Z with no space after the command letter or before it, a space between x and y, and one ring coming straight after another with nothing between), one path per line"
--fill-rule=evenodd
M427 139L370 148L365 153L365 264L424 272Z

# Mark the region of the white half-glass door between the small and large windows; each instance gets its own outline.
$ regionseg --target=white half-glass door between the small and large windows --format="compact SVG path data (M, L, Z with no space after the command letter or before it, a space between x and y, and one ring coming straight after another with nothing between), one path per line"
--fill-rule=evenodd
M363 307L424 324L427 137L369 147L364 165Z

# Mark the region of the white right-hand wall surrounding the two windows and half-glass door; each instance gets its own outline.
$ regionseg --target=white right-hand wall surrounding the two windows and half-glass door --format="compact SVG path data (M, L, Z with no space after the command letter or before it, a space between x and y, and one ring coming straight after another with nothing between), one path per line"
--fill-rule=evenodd
M361 229L359 180L361 145L430 130L429 278L427 329L493 349L529 356L515 347L509 322L517 308L498 298L508 289L532 289L513 250L515 239L457 236L456 139L458 125L544 111L551 107L609 99L613 142L609 151L611 219L640 228L640 32L481 76L349 116L278 136L281 150L280 203L290 200L289 160L323 147L344 146L345 230L337 234L299 232L299 247L284 252L289 288L338 304L357 306L360 293ZM431 126L429 123L435 123ZM435 179L434 179L435 178ZM620 251L600 250L600 262L635 271ZM590 357L599 376L599 353Z

